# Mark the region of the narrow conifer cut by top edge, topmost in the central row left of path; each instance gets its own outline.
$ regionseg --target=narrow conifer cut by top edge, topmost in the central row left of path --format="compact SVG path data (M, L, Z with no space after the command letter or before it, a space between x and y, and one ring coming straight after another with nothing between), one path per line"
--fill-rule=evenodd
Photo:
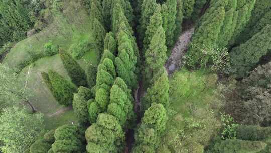
M157 7L155 0L143 0L141 6L141 18L139 20L139 40L143 41L147 26L150 23L150 18L154 14Z

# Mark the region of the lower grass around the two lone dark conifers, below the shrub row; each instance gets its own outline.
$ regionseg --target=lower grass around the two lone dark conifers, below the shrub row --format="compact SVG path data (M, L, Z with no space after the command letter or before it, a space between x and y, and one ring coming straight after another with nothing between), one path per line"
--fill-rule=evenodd
M78 62L83 68L85 68L87 63L89 62L91 62L92 64L97 64L96 52L89 51ZM41 72L42 71L47 72L49 69L52 69L58 72L67 80L70 80L70 78L68 77L67 71L65 70L62 64L60 56L55 55L52 57L42 58L36 61L35 63L33 63L32 65L30 65L31 73L28 79L28 88L30 88L30 91L32 93L31 102L33 103L33 105L38 111L45 114L46 125L48 125L47 127L51 129L53 125L56 125L56 126L58 125L54 123L57 120L57 118L60 119L60 121L58 122L61 124L61 123L64 123L65 121L70 121L68 118L75 121L75 117L74 117L73 111L69 111L70 113L67 113L67 114L66 113L60 114L58 115L57 118L50 119L51 117L48 117L50 114L53 114L57 112L58 110L64 108L63 106L58 104L58 102L55 100L54 96L52 95L51 91L47 88L46 84L42 80ZM25 67L20 73L20 77L26 78L28 70L29 70L29 66Z

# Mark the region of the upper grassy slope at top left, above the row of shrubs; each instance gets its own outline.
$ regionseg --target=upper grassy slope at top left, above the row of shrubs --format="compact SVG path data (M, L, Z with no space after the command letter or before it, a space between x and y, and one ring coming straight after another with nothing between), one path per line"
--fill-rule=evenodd
M36 54L43 52L44 44L52 40L65 50L85 37L91 36L90 19L87 11L80 2L68 1L65 3L64 11L53 10L54 22L41 32L18 42L4 59L12 68L31 58L29 52Z

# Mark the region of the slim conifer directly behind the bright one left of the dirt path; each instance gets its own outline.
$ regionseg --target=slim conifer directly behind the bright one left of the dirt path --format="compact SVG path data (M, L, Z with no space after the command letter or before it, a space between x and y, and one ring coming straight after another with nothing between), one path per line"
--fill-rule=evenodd
M154 14L151 16L150 23L147 26L145 37L144 37L144 50L147 50L153 36L155 35L157 28L161 27L163 24L162 16L161 16L161 7L157 5Z

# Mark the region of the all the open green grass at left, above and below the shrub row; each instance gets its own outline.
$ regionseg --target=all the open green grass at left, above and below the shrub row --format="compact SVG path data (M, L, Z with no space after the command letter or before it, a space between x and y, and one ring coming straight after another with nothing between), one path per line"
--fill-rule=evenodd
M4 63L11 68L18 68L22 61L30 58L29 52L42 52L44 44L52 40L53 44L59 45L62 49L70 52L70 47L81 41L91 38L90 20L88 12L81 6L80 2L68 1L65 3L63 12L54 11L54 21L41 32L25 40L18 42L4 59ZM71 52L70 52L71 53ZM83 69L88 63L97 64L96 51L90 49L78 60ZM66 110L59 114L52 114L65 109L55 100L50 90L41 78L41 72L52 69L70 80L60 56L43 57L22 69L19 76L26 80L30 67L30 75L27 87L31 92L31 102L34 107L44 114L47 129L53 129L60 125L76 122L72 110Z

